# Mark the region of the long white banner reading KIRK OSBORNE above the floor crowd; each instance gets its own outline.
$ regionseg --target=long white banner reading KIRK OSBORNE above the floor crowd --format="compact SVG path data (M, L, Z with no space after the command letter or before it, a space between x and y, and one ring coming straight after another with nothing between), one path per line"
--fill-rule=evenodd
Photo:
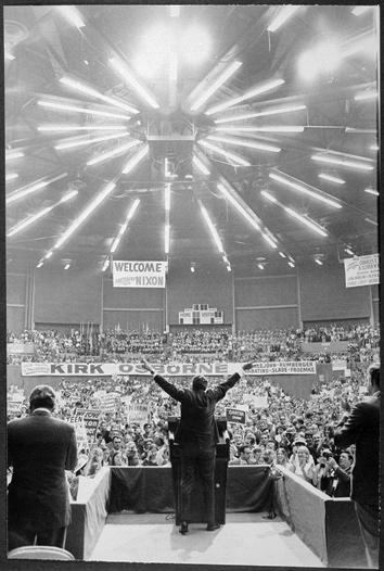
M228 376L240 370L241 363L151 363L164 377L193 377L194 375ZM148 376L140 363L22 363L23 377L110 377L112 375ZM255 363L247 375L316 375L313 360Z

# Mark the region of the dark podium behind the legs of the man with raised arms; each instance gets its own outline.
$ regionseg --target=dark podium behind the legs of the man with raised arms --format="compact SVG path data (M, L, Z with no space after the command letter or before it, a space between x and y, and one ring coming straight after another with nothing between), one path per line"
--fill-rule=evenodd
M227 432L227 419L216 418L219 431L219 442L216 444L215 461L215 519L218 523L226 523L226 498L227 498L227 467L229 461L229 436ZM168 418L168 440L169 457L172 470L172 483L176 507L176 525L181 524L180 498L181 498L181 454L180 445L175 441L175 435L180 419L177 417ZM190 516L191 523L205 523L204 519L204 496L202 486L199 482L192 491L192 510Z

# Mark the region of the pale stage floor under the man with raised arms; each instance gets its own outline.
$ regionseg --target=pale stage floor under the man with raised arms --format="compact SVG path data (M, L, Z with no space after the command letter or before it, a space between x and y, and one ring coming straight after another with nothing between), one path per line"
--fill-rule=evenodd
M194 523L181 535L167 515L111 515L89 560L325 567L285 522L263 516L227 513L216 532Z

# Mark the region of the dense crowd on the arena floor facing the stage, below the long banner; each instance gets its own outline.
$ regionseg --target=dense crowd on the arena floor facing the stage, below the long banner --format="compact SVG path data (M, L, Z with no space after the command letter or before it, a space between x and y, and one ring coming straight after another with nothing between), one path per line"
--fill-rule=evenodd
M153 356L155 359L155 355ZM343 409L349 409L363 392L366 364L355 363L351 377L319 382L309 401L285 394L272 378L244 377L216 407L246 408L246 422L229 423L230 465L268 464L291 471L329 495L348 495L354 448L337 449L334 427ZM221 382L209 378L209 384ZM190 385L190 379L177 379ZM113 393L114 404L106 410L103 396ZM27 396L27 395L26 395ZM73 421L87 410L99 410L99 426L88 445L77 475L94 475L103 466L169 466L168 417L179 416L179 405L148 377L115 376L84 380L62 379L57 386L56 416ZM255 398L266 396L266 407ZM141 417L136 410L141 406ZM27 404L12 416L24 416ZM72 490L76 478L71 479Z

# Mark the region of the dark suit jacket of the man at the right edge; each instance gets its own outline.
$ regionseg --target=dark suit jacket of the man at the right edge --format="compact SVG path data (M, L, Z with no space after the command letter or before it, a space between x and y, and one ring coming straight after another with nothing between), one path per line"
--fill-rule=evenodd
M349 418L335 432L335 445L356 444L350 497L359 504L379 503L380 393L357 403Z

